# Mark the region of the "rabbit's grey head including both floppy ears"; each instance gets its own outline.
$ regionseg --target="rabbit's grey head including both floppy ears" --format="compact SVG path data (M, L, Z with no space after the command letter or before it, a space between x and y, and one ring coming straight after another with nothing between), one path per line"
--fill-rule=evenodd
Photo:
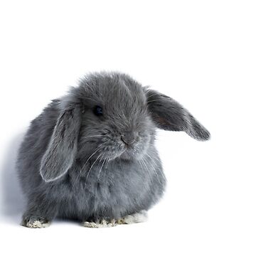
M45 181L63 176L74 159L140 159L157 127L198 140L210 137L178 102L120 73L89 75L63 97L60 107L41 164Z

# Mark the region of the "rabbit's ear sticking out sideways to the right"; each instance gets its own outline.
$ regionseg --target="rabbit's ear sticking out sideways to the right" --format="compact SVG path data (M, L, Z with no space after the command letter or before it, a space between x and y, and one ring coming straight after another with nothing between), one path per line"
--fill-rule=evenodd
M154 90L147 90L146 97L151 117L159 129L183 131L199 141L210 139L210 132L176 100Z

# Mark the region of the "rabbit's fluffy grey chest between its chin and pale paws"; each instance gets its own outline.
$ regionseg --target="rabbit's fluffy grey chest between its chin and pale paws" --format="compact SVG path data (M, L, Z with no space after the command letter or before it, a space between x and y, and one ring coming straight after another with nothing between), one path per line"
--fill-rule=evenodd
M136 164L90 166L79 178L68 178L68 189L62 189L65 203L62 201L60 212L80 219L95 215L117 218L147 209L164 188L164 180L157 185L155 171L145 172Z

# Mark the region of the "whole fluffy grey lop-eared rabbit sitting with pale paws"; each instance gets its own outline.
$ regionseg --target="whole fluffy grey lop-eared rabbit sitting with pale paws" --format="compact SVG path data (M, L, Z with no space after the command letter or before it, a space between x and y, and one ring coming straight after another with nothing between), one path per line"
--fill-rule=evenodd
M127 74L82 78L33 119L18 150L27 200L21 225L45 228L54 218L90 228L144 221L166 188L156 129L210 138L178 102Z

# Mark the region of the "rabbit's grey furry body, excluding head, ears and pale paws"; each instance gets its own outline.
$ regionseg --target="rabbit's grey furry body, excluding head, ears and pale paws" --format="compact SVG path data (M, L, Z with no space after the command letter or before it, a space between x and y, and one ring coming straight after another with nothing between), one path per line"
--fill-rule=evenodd
M78 220L118 219L148 210L158 201L164 192L165 178L153 145L148 149L149 156L138 161L115 159L103 164L103 161L95 161L97 157L89 161L87 157L76 159L68 173L54 185L43 181L39 172L41 159L58 115L58 101L55 101L32 122L21 145L18 161L24 164L18 166L21 184L29 201L36 203L36 211L45 208L49 212L44 215L46 218L58 215ZM31 144L33 151L29 152ZM40 209L41 204L43 209Z

